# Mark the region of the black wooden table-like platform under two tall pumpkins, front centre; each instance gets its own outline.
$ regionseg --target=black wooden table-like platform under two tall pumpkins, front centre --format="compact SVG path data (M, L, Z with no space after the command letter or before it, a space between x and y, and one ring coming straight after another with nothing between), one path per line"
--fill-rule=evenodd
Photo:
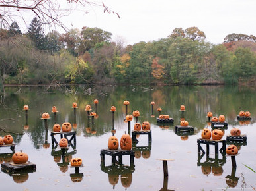
M105 155L110 155L112 157L112 164L122 165L122 156L130 155L130 165L134 164L134 151L133 150L101 150L101 162L105 165ZM116 160L118 156L118 161Z

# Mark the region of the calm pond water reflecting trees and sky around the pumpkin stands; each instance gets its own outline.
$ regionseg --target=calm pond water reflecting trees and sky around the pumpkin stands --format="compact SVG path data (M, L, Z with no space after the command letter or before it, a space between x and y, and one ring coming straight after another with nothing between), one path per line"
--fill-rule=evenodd
M90 104L95 111L94 99L99 100L99 117L88 119L85 105ZM128 132L128 123L124 121L126 107L124 100L130 101L128 114L140 111L138 121L151 123L152 142L147 135L140 135L134 145L136 157L130 165L130 157L123 156L124 166L111 164L111 157L105 155L105 164L101 163L101 150L107 149L108 138L112 135L112 112L114 105L115 136L120 140ZM155 102L153 112L151 101ZM72 103L77 102L76 116ZM29 105L26 119L23 105ZM56 106L56 119L52 106ZM180 105L185 105L184 117L192 133L175 132L175 126L181 119ZM11 132L16 143L15 151L28 153L29 161L36 164L35 172L11 174L0 171L1 188L11 190L253 190L256 188L256 107L255 87L240 86L63 86L5 88L4 101L0 109L0 134ZM158 124L157 107L162 114L174 119L173 124ZM237 121L239 111L250 111L251 121ZM209 155L198 154L197 140L201 138L204 127L209 126L207 112L214 116L225 115L228 127L223 139L233 127L240 128L247 135L247 142L238 145L239 154L235 156L236 168L232 168L231 157L218 153L210 145ZM45 128L42 113L50 113ZM62 156L60 148L52 145L50 136L55 123L65 121L73 125L76 131L76 143ZM130 123L133 130L135 119ZM4 131L5 130L5 131ZM54 136L57 141L60 136ZM201 144L206 151L206 145ZM219 144L219 148L222 144ZM228 145L227 145L228 146ZM12 151L8 147L0 148L1 163L11 160ZM75 169L69 161L72 157L81 157L83 167L74 178ZM116 157L118 159L118 157ZM163 176L163 163L167 161L169 178ZM247 168L251 167L251 169ZM81 176L82 175L82 176ZM229 177L229 178L228 178Z

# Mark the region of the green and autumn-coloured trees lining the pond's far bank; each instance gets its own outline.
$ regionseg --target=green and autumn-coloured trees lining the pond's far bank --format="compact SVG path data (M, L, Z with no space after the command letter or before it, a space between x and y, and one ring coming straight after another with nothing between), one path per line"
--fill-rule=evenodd
M256 37L228 34L206 42L197 27L124 47L100 28L44 34L34 17L22 34L17 22L0 29L3 84L237 84L254 82Z

